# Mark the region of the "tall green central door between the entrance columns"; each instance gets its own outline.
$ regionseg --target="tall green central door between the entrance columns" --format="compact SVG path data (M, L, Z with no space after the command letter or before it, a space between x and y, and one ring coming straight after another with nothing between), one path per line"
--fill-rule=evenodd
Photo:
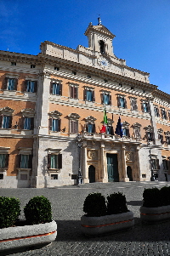
M108 182L119 181L117 154L106 154Z

